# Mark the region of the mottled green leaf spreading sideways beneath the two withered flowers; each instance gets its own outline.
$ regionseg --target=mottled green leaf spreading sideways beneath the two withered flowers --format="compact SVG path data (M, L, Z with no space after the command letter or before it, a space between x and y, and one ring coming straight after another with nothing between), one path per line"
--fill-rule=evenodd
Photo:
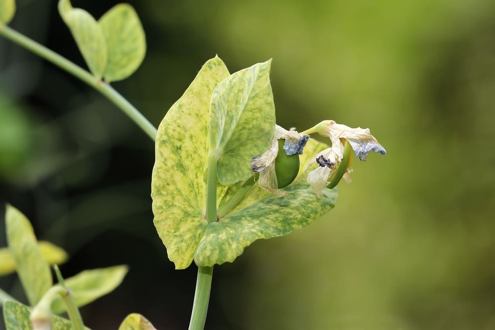
M301 168L316 154L316 150L326 147L314 140L308 141L301 156ZM285 196L253 187L230 214L208 224L195 253L196 264L212 266L233 262L256 239L287 235L330 211L335 205L337 190L325 189L318 196L302 175L301 171L299 182L284 189L287 191ZM233 191L228 191L224 198L232 194Z

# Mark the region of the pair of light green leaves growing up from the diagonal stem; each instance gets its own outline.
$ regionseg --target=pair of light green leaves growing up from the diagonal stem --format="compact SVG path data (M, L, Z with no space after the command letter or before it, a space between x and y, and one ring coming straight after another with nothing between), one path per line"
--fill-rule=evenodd
M73 8L69 0L60 0L58 11L97 79L122 80L141 65L146 53L145 32L130 5L117 4L99 21L86 10Z

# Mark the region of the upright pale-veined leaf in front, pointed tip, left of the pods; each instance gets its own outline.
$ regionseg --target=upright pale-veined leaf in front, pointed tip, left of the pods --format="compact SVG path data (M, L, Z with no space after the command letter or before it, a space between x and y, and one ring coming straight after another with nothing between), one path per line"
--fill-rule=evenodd
M210 153L219 160L222 185L252 176L250 160L270 146L275 106L270 86L270 61L238 71L219 83L211 96Z

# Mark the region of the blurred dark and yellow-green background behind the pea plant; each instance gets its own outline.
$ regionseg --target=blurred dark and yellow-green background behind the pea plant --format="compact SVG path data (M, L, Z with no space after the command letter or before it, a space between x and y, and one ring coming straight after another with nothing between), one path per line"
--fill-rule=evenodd
M84 66L56 1L17 3L13 28ZM73 0L95 17L115 3ZM130 3L148 52L113 85L154 125L215 54L231 72L273 58L280 125L370 127L387 149L354 164L327 216L215 267L207 329L495 329L493 0ZM153 148L109 101L0 38L0 202L67 249L67 277L130 265L82 309L93 329L130 312L189 323L197 270L175 271L154 231ZM0 286L22 297L15 276Z

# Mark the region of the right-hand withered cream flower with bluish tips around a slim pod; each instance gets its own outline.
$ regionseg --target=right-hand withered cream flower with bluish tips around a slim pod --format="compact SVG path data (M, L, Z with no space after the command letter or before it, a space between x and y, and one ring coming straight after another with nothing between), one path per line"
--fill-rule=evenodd
M354 150L356 157L361 161L366 160L368 152L386 153L385 148L373 137L368 128L350 128L346 125L337 124L333 120L325 120L318 125L304 131L303 133L318 133L330 138L332 146L318 153L306 167L305 172L317 163L319 166L306 174L306 178L316 193L320 193L324 186L333 188L343 176L350 181L349 173L352 171L352 155L350 148ZM346 150L346 144L349 146ZM345 162L345 164L343 163ZM341 167L341 164L343 167ZM337 175L339 172L340 175ZM337 182L332 179L337 178Z

